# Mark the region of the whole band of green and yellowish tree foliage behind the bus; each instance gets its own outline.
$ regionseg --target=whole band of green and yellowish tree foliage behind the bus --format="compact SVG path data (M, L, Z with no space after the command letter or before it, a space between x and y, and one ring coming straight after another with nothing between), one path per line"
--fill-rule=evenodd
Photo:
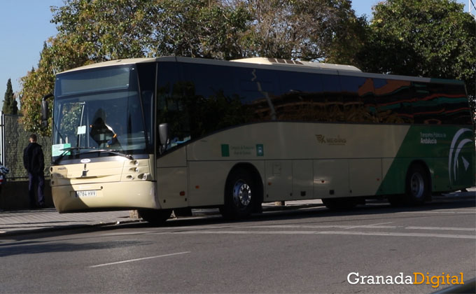
M92 62L179 55L279 57L353 64L365 71L463 79L475 92L475 23L454 0L387 0L367 24L350 0L64 0L58 33L22 78L27 130L55 73ZM474 97L474 96L473 96Z

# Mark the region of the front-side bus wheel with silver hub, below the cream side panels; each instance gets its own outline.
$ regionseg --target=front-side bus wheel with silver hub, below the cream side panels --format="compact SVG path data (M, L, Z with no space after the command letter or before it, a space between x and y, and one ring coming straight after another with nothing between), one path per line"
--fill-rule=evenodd
M243 168L233 169L225 183L225 204L220 212L224 218L240 219L249 216L259 202L257 181Z

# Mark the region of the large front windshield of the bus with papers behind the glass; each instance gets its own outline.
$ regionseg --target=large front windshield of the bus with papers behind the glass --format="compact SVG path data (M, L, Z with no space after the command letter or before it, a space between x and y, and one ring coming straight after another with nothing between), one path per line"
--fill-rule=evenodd
M54 118L53 160L147 153L133 66L57 75Z

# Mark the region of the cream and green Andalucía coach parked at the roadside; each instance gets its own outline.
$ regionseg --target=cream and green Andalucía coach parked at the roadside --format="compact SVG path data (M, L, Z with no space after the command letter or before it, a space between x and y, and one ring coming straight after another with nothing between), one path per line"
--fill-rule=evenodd
M290 200L422 204L475 186L475 158L459 80L262 57L113 60L55 80L59 213L137 209L162 223L174 209L244 218Z

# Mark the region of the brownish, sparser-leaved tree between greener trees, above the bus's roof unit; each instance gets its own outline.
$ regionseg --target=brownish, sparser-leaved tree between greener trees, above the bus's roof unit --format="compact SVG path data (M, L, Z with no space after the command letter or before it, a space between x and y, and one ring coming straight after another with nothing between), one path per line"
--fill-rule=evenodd
M363 43L365 18L348 0L248 0L253 20L248 55L352 62ZM349 54L351 53L351 54Z

